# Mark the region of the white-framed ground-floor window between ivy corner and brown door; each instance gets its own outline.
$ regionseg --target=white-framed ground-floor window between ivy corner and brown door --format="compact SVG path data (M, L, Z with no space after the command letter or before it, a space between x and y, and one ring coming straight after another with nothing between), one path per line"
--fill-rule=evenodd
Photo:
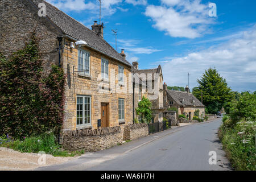
M82 104L78 103L78 98L79 98L79 101L81 101L80 99L82 98ZM89 98L90 102L89 102L89 104L85 104L85 99L87 100L88 98ZM80 107L79 110L77 110L78 109L78 105L80 105L79 106ZM87 109L86 110L85 110L85 105L87 105ZM88 105L89 105L89 110L88 110ZM81 124L77 123L77 119L78 119L77 112L78 111L82 112L82 117L79 117L79 118L82 119L82 123ZM86 111L86 114L88 114L88 111L90 112L89 117L85 117L85 111ZM89 123L85 123L85 118L89 118ZM92 97L91 96L77 95L76 96L76 127L82 127L82 126L92 126Z

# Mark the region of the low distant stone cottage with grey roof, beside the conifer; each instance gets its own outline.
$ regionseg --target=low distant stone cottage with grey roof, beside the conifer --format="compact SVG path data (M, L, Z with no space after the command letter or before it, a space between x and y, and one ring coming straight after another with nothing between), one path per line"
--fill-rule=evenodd
M185 88L185 92L168 90L167 85L164 83L164 107L175 107L177 115L183 114L189 120L193 119L194 112L198 109L199 116L205 116L205 106L189 92L189 88Z

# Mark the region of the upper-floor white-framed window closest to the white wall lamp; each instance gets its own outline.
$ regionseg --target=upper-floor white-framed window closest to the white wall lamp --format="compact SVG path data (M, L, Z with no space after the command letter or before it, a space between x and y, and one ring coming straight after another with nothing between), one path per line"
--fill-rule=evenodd
M80 61L80 54L82 52L82 61ZM88 57L88 59L86 59L86 57ZM86 65L87 65L87 61L88 61L88 72L86 72ZM85 51L84 49L78 49L77 51L77 71L79 75L87 75L90 76L90 53ZM84 71L84 72L81 72Z

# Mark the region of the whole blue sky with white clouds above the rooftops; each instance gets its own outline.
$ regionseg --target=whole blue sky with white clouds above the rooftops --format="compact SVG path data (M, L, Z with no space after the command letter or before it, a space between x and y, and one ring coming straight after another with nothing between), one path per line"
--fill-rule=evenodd
M98 0L47 0L90 28L99 20ZM209 3L217 16L210 17ZM197 86L216 68L233 90L256 90L256 1L102 0L104 38L139 69L162 65L169 86Z

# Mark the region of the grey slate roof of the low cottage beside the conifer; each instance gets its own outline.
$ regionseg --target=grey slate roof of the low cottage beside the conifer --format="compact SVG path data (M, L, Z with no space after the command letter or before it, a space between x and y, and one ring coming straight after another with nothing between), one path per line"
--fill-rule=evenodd
M178 105L183 105L182 101L184 99L184 104L189 106L199 106L204 107L204 105L195 97L192 93L176 91L176 90L167 90L167 94L171 96ZM195 104L193 104L195 100Z

